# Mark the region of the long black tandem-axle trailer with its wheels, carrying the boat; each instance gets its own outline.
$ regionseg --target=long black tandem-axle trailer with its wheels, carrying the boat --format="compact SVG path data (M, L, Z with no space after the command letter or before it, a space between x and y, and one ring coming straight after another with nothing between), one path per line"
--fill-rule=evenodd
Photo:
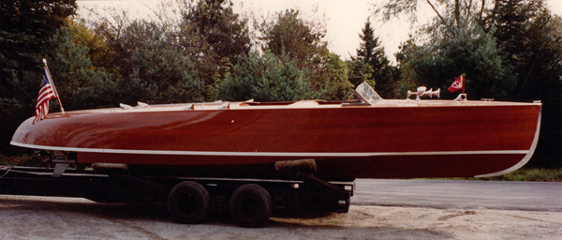
M346 213L354 180L324 181L313 159L275 164L283 179L135 175L119 168L11 167L0 164L0 194L86 198L103 203L167 205L179 223L197 224L212 214L230 214L242 227L261 227L272 215ZM107 167L107 166L106 166Z

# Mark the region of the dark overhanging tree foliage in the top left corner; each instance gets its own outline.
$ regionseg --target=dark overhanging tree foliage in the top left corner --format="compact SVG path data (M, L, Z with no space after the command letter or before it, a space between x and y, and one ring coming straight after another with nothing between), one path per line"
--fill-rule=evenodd
M10 0L0 2L0 81L21 79L37 71L43 41L75 14L74 0ZM5 90L5 89L2 89ZM2 91L4 92L4 91Z

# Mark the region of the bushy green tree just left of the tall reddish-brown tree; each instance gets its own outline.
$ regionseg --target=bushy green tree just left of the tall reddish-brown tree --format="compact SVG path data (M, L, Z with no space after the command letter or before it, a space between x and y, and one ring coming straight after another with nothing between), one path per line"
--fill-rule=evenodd
M134 21L122 31L121 101L134 104L203 101L194 61L154 22Z

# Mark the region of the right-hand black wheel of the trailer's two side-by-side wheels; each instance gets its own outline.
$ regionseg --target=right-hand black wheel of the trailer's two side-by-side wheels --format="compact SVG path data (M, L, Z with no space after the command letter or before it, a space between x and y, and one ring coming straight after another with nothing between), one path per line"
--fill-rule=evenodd
M230 198L230 214L242 227L265 225L272 212L271 195L265 188L247 184L234 191Z

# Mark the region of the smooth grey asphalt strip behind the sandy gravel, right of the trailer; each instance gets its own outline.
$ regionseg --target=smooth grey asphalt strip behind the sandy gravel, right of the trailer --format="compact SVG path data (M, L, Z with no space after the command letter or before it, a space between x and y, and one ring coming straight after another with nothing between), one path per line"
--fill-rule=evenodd
M562 212L562 183L358 179L351 203Z

